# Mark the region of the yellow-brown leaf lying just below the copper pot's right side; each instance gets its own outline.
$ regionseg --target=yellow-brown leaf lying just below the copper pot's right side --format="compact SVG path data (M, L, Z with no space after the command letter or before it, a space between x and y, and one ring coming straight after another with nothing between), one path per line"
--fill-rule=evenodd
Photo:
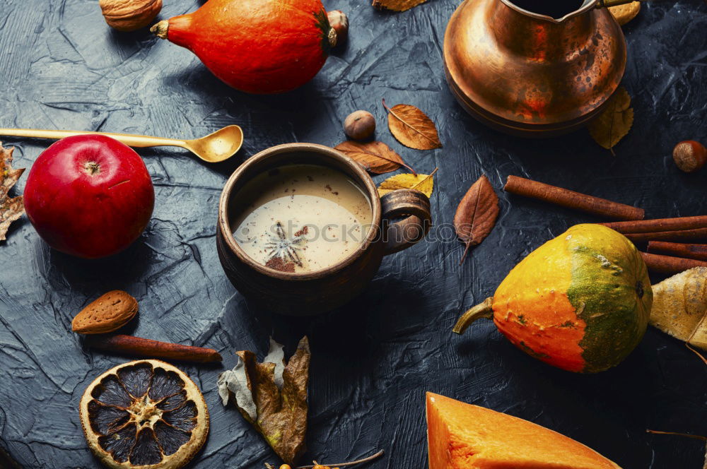
M594 140L614 154L614 146L629 133L633 125L631 96L623 86L609 97L599 117L589 124L589 133Z

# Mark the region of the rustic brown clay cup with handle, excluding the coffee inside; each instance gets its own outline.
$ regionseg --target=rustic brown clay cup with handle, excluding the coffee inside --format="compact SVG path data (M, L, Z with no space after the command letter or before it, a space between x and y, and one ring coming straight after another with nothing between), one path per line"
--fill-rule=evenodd
M263 266L247 256L233 237L235 194L257 174L292 164L324 165L344 172L368 194L373 212L361 246L320 271L289 273ZM309 316L356 297L378 271L383 256L419 242L430 225L430 201L420 191L399 189L379 197L368 173L343 153L313 143L288 143L252 156L228 178L218 203L216 245L223 270L243 296L271 311Z

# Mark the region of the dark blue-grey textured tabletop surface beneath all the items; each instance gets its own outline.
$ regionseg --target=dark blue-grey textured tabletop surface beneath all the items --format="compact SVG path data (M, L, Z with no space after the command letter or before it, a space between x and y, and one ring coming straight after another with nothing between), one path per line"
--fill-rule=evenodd
M168 18L193 0L165 0ZM71 318L106 290L139 299L129 332L234 350L267 352L268 336L291 352L304 333L313 350L309 458L339 462L383 448L373 468L426 464L423 393L524 417L588 444L624 469L701 467L703 443L646 428L707 434L707 370L684 346L650 329L624 364L597 376L551 369L513 348L489 322L452 336L460 312L493 293L510 268L569 225L597 221L508 196L508 174L539 179L645 208L648 217L707 213L707 172L682 174L677 141L707 143L707 6L655 2L626 26L624 85L636 121L614 158L585 131L549 141L485 129L445 84L441 45L457 1L431 0L407 13L366 1L327 0L349 13L350 41L312 83L284 96L243 95L221 84L190 52L147 32L113 32L94 0L0 0L0 126L88 129L195 137L240 124L233 161L205 165L185 153L146 150L156 209L145 234L116 259L87 262L47 248L26 220L0 247L0 447L26 468L96 468L78 400L122 357L90 352ZM385 129L380 98L419 106L438 123L444 148L404 148ZM378 138L419 172L434 167L438 224L480 174L501 197L496 229L463 266L460 242L430 240L385 259L353 304L309 320L255 310L218 264L216 202L249 155L291 141L335 145L354 109L378 119ZM6 138L16 167L48 144ZM376 177L380 180L383 177ZM23 177L16 189L23 190ZM204 390L211 435L197 468L262 468L275 462L262 439L216 393L221 367L183 366ZM0 465L2 465L0 463Z

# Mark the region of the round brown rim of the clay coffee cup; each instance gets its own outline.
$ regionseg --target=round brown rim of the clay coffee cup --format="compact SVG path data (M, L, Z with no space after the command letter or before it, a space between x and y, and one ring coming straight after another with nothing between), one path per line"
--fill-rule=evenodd
M370 230L368 230L368 235L366 235L366 239L363 241L363 243L361 243L361 246L359 246L356 251L349 254L349 256L346 256L334 266L330 266L327 268L323 268L319 271L313 272L278 271L274 268L269 268L267 266L262 265L261 263L258 263L257 261L255 261L255 259L252 259L250 256L245 254L243 248L238 245L238 242L236 242L235 238L233 237L233 230L231 230L230 228L230 220L228 216L229 201L230 196L233 192L233 187L235 186L236 182L238 182L238 179L243 177L243 174L246 174L253 167L262 164L264 160L267 160L268 158L271 158L274 155L280 155L282 153L293 153L300 155L303 153L316 153L325 157L334 158L335 160L338 160L341 165L344 165L346 169L350 170L350 173L354 174L356 176L356 179L358 179L356 182L361 185L361 189L366 190L366 194L368 195L368 198L370 200L372 212L371 227ZM288 163L284 162L281 165L286 164ZM226 185L223 186L223 190L221 191L221 197L218 200L218 226L221 229L221 235L223 236L223 240L226 242L226 246L228 246L228 249L230 249L230 251L236 257L238 257L241 262L245 263L245 265L254 269L258 273L262 273L263 275L279 278L282 280L313 280L317 278L328 277L329 275L344 270L344 268L351 265L351 263L354 263L356 259L362 256L369 249L370 245L373 244L376 237L378 237L378 232L380 231L380 220L381 208L380 197L378 196L378 188L376 188L373 179L370 178L366 170L363 170L363 167L361 167L361 165L359 165L357 162L355 162L348 156L344 155L344 153L339 152L339 150L334 150L334 148L331 147L318 145L317 143L284 143L282 145L266 148L265 150L262 150L261 152L253 155L249 159L245 160L245 162L243 162L243 165L240 165L233 172L233 174L230 175L228 181L226 181Z

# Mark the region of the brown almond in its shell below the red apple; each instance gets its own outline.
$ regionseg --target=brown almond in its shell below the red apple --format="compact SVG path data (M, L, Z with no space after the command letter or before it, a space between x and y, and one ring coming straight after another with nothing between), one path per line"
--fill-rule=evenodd
M81 309L71 329L79 334L101 334L116 331L137 314L137 300L128 292L112 290Z

